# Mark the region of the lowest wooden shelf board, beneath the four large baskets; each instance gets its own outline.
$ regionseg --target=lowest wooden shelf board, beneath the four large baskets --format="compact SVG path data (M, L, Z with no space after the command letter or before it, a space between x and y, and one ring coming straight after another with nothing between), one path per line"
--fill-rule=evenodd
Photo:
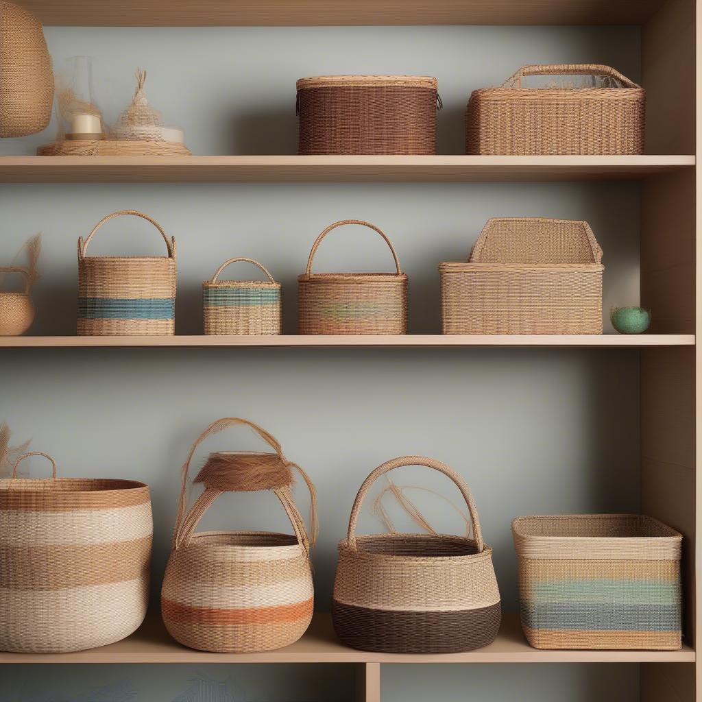
M150 615L131 637L116 644L69 654L0 653L0 663L692 663L695 652L680 651L541 651L527 644L517 614L505 613L496 641L461 654L378 654L356 651L333 632L331 616L317 613L307 633L277 651L214 654L175 642L161 618Z

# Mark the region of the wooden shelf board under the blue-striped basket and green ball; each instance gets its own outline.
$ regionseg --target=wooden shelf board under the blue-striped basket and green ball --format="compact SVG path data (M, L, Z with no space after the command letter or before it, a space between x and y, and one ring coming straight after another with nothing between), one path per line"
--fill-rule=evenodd
M694 346L691 334L405 334L329 336L0 336L0 348L96 347L611 347Z

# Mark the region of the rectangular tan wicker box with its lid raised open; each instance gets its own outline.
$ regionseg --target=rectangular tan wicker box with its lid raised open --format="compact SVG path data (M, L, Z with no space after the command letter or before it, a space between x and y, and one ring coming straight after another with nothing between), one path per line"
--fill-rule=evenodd
M444 334L601 334L602 249L587 222L488 220L439 265Z

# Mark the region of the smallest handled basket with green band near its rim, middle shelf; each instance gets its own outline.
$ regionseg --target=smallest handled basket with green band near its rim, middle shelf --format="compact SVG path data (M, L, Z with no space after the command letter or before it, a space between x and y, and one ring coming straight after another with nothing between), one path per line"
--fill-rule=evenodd
M237 261L258 266L268 280L218 280L225 267ZM230 258L220 265L202 284L202 307L206 334L280 333L280 283L252 258Z

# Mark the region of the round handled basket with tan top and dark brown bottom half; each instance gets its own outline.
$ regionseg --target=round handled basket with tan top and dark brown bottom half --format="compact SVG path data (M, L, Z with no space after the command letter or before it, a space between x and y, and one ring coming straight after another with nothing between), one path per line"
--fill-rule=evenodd
M472 538L356 536L373 482L404 465L425 465L453 480L468 505ZM373 470L356 496L347 538L339 543L331 612L340 640L364 651L456 653L495 640L501 607L492 550L483 543L475 502L458 473L421 456L393 458Z

